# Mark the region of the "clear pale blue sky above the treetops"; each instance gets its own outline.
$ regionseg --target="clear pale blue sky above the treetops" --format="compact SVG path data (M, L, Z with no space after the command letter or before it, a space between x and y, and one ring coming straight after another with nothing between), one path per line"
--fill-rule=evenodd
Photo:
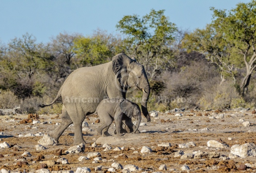
M63 31L91 35L99 28L115 34L123 16L151 9L165 9L171 22L192 31L211 22L210 7L229 10L239 2L249 0L0 0L0 42L25 33L43 43Z

